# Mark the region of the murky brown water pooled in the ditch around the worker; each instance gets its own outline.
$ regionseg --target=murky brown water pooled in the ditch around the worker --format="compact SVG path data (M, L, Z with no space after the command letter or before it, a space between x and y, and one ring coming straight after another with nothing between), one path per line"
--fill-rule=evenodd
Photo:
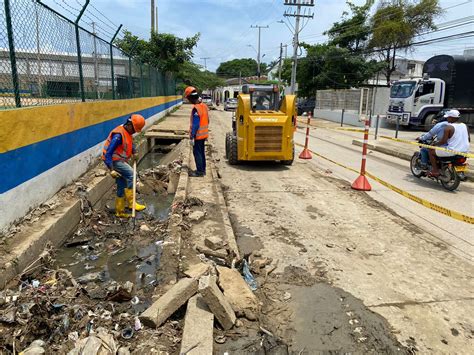
M164 155L158 152L145 155L137 166L139 176L140 172L159 166ZM112 193L107 198L106 208L109 212L113 208L111 206L113 206L114 197ZM137 212L135 229L141 230L140 226L146 225L144 223L150 219L164 222L170 212L173 198L174 194L138 194L137 200L144 203L147 208L142 212ZM71 271L72 275L82 282L91 280L124 283L130 281L136 288L155 286L163 241L150 242L147 238L147 240L136 240L123 245L125 243L121 243L121 239L117 237L120 238L124 230L125 233L133 233L132 221L119 225L98 221L98 225L108 227L106 234L109 238L93 243L94 236L84 234L79 238L74 238L76 241L66 242L55 255L56 265ZM147 229L144 230L148 232Z

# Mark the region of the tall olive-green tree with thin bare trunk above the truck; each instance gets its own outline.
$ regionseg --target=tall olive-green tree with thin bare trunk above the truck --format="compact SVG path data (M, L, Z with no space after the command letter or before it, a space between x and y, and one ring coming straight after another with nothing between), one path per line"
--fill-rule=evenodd
M377 51L385 63L387 85L396 70L397 50L407 51L415 37L435 30L434 19L442 13L438 0L420 0L412 4L407 0L383 0L371 18L369 48Z

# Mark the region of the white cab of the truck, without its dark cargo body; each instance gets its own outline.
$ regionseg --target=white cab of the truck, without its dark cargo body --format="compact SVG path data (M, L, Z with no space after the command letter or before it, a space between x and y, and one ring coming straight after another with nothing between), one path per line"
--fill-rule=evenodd
M430 128L435 115L443 109L445 87L444 80L426 76L396 81L390 88L387 121Z

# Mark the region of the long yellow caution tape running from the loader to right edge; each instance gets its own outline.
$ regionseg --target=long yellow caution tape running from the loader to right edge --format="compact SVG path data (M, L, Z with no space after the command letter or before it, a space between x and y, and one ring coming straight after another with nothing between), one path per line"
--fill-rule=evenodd
M299 147L304 147L304 145L299 144L299 143L296 143L296 145L299 146ZM346 166L346 165L344 165L344 164L338 163L338 162L336 162L336 161L334 161L334 160L332 160L332 159L329 159L329 158L327 158L327 157L325 157L325 156L323 156L323 155L321 155L321 154L319 154L319 153L313 152L311 149L308 149L308 150L309 150L312 154L314 154L314 155L316 155L316 156L318 156L318 157L320 157L320 158L322 158L322 159L324 159L324 160L327 160L327 161L329 161L329 162L331 162L331 163L333 163L333 164L336 164L336 165L340 166L341 168L344 168L344 169L347 169L347 170L350 170L350 171L352 171L352 172L354 172L354 173L359 174L359 171L356 170L356 169L353 169L353 168L351 168L351 167L349 167L349 166ZM460 213L460 212L453 211L453 210L450 210L450 209L445 208L445 207L443 207L443 206L437 205L436 203L433 203L433 202L424 200L424 199L422 199L422 198L420 198L420 197L417 197L417 196L415 196L415 195L413 195L413 194L411 194L411 193L409 193L409 192L407 192L407 191L404 191L404 190L400 189L399 187L396 187L396 186L394 186L394 185L392 185L392 184L390 184L390 183L388 183L388 182L386 182L386 181L384 181L384 180L378 178L377 176L375 176L375 175L373 175L373 174L371 174L371 173L369 173L369 172L366 172L365 175L368 176L369 178L371 178L372 180L375 180L375 181L377 181L378 183L384 185L385 187L388 187L390 190L395 191L396 193L398 193L398 194L400 194L400 195L402 195L402 196L404 196L404 197L406 197L406 198L412 200L413 202L416 202L416 203L418 203L418 204L420 204L420 205L422 205L422 206L425 206L425 207L427 207L427 208L429 208L429 209L431 209L431 210L433 210L433 211L436 211L436 212L438 212L438 213L444 214L445 216L451 217L451 218L456 219L456 220L458 220L458 221L462 221L462 222L469 223L469 224L474 224L474 217L467 216L467 215L462 214L462 213Z

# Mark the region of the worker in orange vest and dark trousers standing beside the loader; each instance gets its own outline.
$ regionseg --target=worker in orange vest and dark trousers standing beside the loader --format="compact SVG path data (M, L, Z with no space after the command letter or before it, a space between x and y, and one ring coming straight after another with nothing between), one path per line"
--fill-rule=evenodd
M196 170L189 173L189 176L206 175L206 153L204 145L209 137L209 112L207 105L202 103L196 88L188 86L184 90L184 96L193 104L191 118L189 120L189 140L193 147Z

